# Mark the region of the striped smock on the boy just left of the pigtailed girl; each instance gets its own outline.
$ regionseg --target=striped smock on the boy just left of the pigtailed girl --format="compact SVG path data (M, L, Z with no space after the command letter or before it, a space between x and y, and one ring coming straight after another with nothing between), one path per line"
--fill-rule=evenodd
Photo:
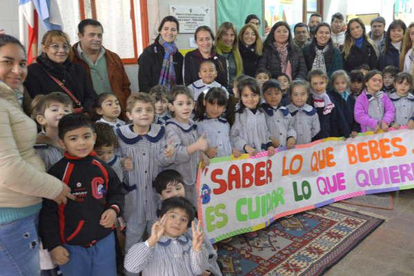
M193 120L188 124L180 123L172 118L166 122L166 141L172 141L175 155L166 169L177 170L183 176L184 184L194 185L199 164L199 152L188 155L187 147L199 138L197 126Z

